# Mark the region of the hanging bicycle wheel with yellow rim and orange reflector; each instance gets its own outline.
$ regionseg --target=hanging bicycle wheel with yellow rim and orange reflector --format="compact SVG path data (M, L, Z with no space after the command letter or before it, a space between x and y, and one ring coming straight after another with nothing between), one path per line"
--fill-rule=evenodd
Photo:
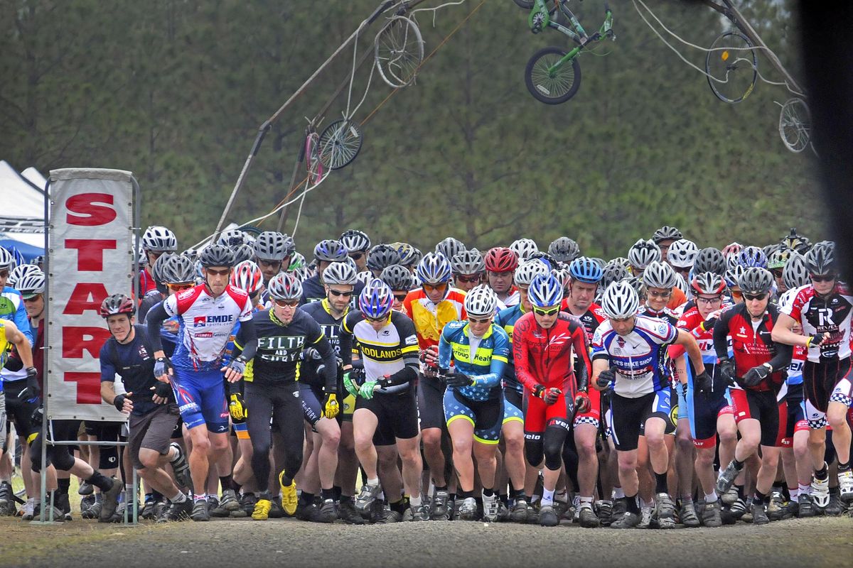
M708 84L717 99L736 103L746 99L758 79L755 46L740 32L720 34L705 57Z

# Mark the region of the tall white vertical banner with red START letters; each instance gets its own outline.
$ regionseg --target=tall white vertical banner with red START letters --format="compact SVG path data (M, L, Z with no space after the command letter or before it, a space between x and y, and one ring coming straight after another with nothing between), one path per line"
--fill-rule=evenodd
M44 382L54 420L127 418L102 403L99 354L110 334L99 308L107 295L134 297L134 184L121 169L50 172Z

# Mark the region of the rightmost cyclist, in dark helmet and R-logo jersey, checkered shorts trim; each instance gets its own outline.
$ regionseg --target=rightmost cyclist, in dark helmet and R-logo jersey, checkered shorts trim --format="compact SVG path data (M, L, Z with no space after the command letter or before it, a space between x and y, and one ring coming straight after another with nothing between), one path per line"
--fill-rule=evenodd
M792 259L793 261L793 259ZM806 347L803 365L806 418L809 420L809 450L814 478L811 500L817 508L829 504L826 451L827 425L833 428L838 455L838 489L841 499L853 501L853 472L850 471L850 425L847 415L853 402L850 379L850 318L853 294L838 280L835 246L816 243L805 255L811 284L799 288L793 300L781 308L774 341ZM793 332L800 324L802 334Z

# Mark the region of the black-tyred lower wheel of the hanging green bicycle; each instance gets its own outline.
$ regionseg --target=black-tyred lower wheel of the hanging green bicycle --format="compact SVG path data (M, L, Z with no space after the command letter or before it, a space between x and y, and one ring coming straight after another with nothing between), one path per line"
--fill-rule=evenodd
M527 90L546 105L566 102L581 86L581 66L577 57L556 66L564 55L566 52L563 49L549 47L540 49L527 61Z

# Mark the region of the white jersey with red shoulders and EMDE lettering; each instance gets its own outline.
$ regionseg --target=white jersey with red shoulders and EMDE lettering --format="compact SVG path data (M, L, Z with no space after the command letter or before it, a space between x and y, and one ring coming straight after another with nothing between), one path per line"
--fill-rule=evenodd
M252 319L249 295L229 284L214 298L199 284L163 301L165 313L179 318L181 329L171 361L176 367L211 370L222 354L238 321Z

